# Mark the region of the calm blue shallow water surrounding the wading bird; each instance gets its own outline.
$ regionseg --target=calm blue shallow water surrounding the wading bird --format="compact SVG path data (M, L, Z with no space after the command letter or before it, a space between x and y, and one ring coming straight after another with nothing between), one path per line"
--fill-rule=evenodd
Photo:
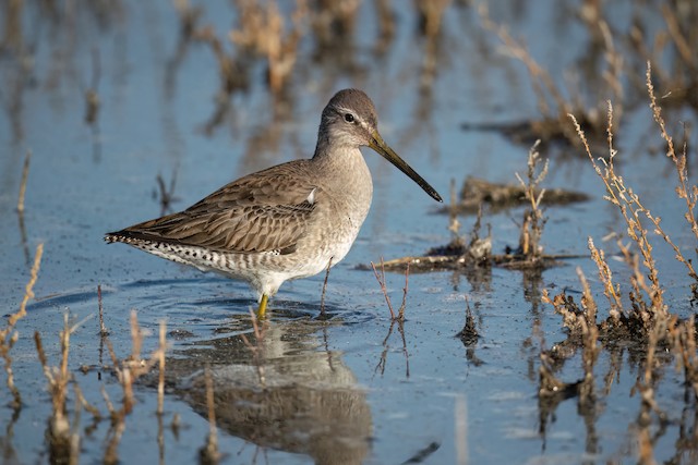
M160 215L158 174L166 184L176 178L171 207L179 210L244 173L311 156L320 111L346 86L372 96L386 142L445 198L450 181L459 186L467 175L516 182L515 172L526 172L530 144L517 144L501 131L460 126L538 118L525 66L500 53L496 37L482 28L473 7L458 4L448 10L435 46L435 71L426 74L429 46L417 32L414 9L395 7L395 38L381 54L374 48L374 7L364 3L341 53L317 53L310 35L300 41L287 100L270 96L265 68L254 62L249 90L229 99L222 122L208 132L219 87L217 63L202 44L190 44L177 54L179 20L170 2L122 2L108 11L81 3L74 12L64 5L58 13L62 20L25 4L22 47L32 60L19 60L12 49L0 57L3 314L21 302L38 243L45 244L45 255L36 299L17 325L20 338L11 352L23 396L16 418L5 406L11 396L2 375L0 446L5 462L50 455L44 440L50 397L32 333L41 334L49 362L57 365L64 313L71 321L92 317L72 334L70 347L70 368L85 396L103 413L103 387L112 402L120 402L117 379L103 368L110 359L97 334L98 284L119 357L131 351L131 309L137 310L145 334L144 354L157 347L159 322L167 321L165 415L160 421L155 414L156 375L151 374L137 384L137 403L119 441L123 463L197 458L208 433L206 364L227 463L637 462L640 400L630 393L642 369L641 350L621 343L615 352L601 353L592 406L582 408L573 397L551 412L537 395L541 348L566 338L562 319L541 303L541 293L579 292L575 267L581 267L599 302L605 302L591 260L570 259L542 272L412 273L407 320L401 327L392 325L373 274L357 267L381 257L422 254L450 235L447 218L434 213L435 203L368 150L373 206L353 248L329 274L328 318L316 318L323 276L286 283L272 302L264 352L256 359L242 339L253 339L249 308L254 302L246 285L104 243L105 232ZM579 78L589 72L585 58L592 52L578 8L574 1L496 2L490 14L507 24L513 36L524 37L533 57L562 84L562 70L575 70ZM607 17L618 19L618 32L627 27L624 19L630 13L642 14L629 1L605 8ZM282 9L292 10L286 3ZM202 3L200 25L212 24L222 37L234 22L236 9L228 3ZM650 30L663 25L659 16L646 24ZM643 61L633 69L634 78L642 81ZM431 86L423 87L430 78ZM91 86L100 99L95 124L84 122L84 93ZM647 100L638 95L639 103L626 108L617 129L619 169L645 204L661 211L665 228L693 257L695 240L673 192L673 168L652 155L662 144ZM587 97L593 105L609 98ZM695 124L688 110L667 113L672 122ZM32 158L24 238L15 205L26 150ZM586 256L587 236L592 236L614 254L613 241L602 237L625 228L617 210L602 199L601 181L588 159L579 149L556 145L543 156L551 159L544 185L592 197L546 209L546 252ZM520 208L485 211L495 252L516 246L521 215ZM462 230L473 221L462 217ZM666 302L673 313L688 316L685 269L660 240L655 244ZM619 262L613 266L618 282L626 283L628 270ZM387 284L397 306L405 277L389 273ZM465 322L466 298L481 335L470 344L456 336ZM557 375L573 382L580 369L577 353ZM658 371L657 400L669 421L650 426L653 454L661 462L691 463L695 402L685 400L683 378L672 364ZM605 384L604 377L612 382ZM68 405L72 415L72 391ZM179 427L172 427L174 417ZM101 461L111 438L109 421L93 425L83 411L75 428L83 436L83 462Z

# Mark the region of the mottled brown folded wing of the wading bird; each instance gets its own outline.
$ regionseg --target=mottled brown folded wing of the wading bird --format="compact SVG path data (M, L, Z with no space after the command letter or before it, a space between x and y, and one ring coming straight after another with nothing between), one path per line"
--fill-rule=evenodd
M241 178L182 212L115 235L226 252L290 252L305 234L317 195L303 164L299 160Z

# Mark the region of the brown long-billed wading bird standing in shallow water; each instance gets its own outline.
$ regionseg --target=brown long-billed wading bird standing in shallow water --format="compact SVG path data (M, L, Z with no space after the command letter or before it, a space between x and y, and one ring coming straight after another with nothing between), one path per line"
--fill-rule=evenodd
M158 257L244 280L258 314L284 281L317 274L349 252L373 196L368 146L430 196L436 191L383 140L363 91L338 91L323 110L311 159L248 174L179 213L108 233Z

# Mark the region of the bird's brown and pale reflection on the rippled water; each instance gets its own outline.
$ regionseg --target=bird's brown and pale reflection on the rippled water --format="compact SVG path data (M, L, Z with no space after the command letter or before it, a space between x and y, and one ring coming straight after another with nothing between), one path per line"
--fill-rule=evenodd
M236 317L228 327L234 335L176 351L166 365L168 383L206 417L203 367L210 364L221 430L260 448L308 454L317 464L362 463L371 411L341 354L318 338L321 331L327 336L326 325L274 321L255 341L250 317Z

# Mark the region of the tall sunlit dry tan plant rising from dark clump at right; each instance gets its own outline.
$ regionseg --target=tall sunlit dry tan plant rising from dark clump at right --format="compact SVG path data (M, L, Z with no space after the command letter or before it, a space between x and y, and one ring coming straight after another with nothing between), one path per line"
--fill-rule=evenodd
M657 105L654 97L654 89L651 82L650 66L648 64L647 72L647 88L650 97L650 108L654 120L661 131L661 135L667 144L667 158L676 167L677 174L677 187L676 193L679 199L686 203L685 219L688 222L690 230L696 232L696 217L695 206L698 199L698 187L696 185L688 185L687 166L686 166L686 152L677 155L672 143L671 136L665 131L665 124L661 117L661 108ZM591 252L591 258L597 265L599 270L599 278L604 285L603 292L609 301L609 318L605 325L602 327L606 331L624 331L629 336L631 334L649 335L657 325L665 325L669 317L669 308L664 302L664 286L660 281L660 272L652 254L654 245L650 240L650 230L647 224L652 228L652 232L664 240L666 244L675 253L675 259L685 266L687 274L690 279L689 289L693 294L693 299L696 299L696 286L698 284L698 276L693 267L691 260L687 259L681 248L670 237L669 233L662 228L661 218L647 208L639 194L637 194L633 187L627 186L623 178L616 172L614 166L614 159L617 155L617 150L613 146L613 107L609 103L609 125L607 125L607 140L609 140L609 157L607 159L597 159L592 156L591 149L587 143L583 131L576 123L574 117L570 115L575 122L575 126L579 132L579 137L587 150L594 171L602 180L606 195L604 198L614 205L621 212L622 218L627 227L626 233L630 242L623 244L618 241L618 247L622 252L622 256L625 262L631 270L630 274L630 291L628 293L629 307L621 294L619 283L613 279L611 267L607 264L605 254L603 250L597 248L593 240L589 237L588 245ZM685 146L684 146L685 150ZM631 246L635 246L638 252L634 252ZM579 314L579 308L576 307L573 301L568 296L558 295L551 301L555 304L555 308L563 316L565 321L569 321L568 328L575 330L577 326L574 323L576 319L575 315ZM597 307L592 301L591 294L585 295L581 302L582 310L586 311L588 306ZM595 311L594 311L595 320Z

